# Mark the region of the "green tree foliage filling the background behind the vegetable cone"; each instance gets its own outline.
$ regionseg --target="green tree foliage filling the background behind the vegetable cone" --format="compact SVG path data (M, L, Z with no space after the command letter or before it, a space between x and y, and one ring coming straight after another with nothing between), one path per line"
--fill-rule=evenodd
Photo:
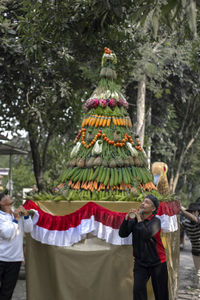
M137 82L145 71L147 109L152 106L153 112L152 125L146 131L152 137L152 158L167 162L169 170L177 169L182 142L187 145L192 136L189 133L195 133L193 125L181 131L182 118L188 107L192 122L198 113L199 2L2 3L0 125L7 130L14 125L16 130L28 132L40 189L46 186L45 181L50 185L49 178L56 180L57 171L51 172L50 165L56 170L62 168L58 161L64 157L62 153L66 155L65 150L69 151L69 140L76 135L82 116L82 102L98 81L104 46L117 54L118 81L126 90L133 122ZM195 41L191 41L193 37ZM179 55L183 50L188 56ZM178 139L177 131L184 138L180 135ZM187 169L184 163L185 159L181 178L182 170Z

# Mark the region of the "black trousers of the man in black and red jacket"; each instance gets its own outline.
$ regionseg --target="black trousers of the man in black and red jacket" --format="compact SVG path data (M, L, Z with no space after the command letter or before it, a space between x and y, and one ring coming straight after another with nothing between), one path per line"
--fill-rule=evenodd
M155 267L143 267L135 262L133 299L147 300L147 281L151 277L155 300L169 300L166 262Z

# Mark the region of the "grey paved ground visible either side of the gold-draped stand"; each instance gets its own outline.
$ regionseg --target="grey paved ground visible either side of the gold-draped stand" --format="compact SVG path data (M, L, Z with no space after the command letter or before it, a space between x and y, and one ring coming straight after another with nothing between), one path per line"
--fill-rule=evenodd
M12 300L26 300L25 271L22 267ZM200 300L200 289L196 289L193 280L193 261L191 245L188 239L180 252L179 291L177 300Z

